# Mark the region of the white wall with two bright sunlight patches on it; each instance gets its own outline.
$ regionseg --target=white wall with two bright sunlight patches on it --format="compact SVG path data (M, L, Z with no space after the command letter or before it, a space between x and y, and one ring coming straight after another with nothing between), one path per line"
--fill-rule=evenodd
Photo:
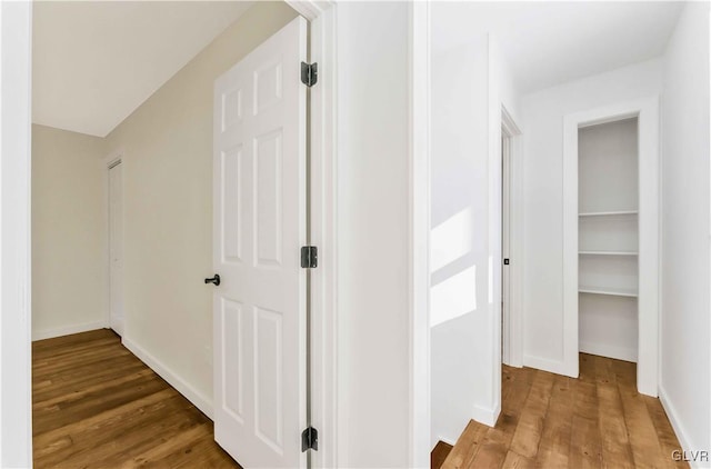
M501 106L517 116L518 99L487 33L431 60L434 445L472 418L493 426L501 409Z

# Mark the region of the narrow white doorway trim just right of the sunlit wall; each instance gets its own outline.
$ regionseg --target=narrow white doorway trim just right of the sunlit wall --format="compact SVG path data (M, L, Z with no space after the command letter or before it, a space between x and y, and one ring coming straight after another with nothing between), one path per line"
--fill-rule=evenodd
M501 107L501 137L508 152L509 204L509 295L504 296L502 362L523 366L523 171L521 130L504 106ZM503 157L503 153L502 153ZM503 186L503 181L502 181ZM502 199L503 203L503 199ZM503 208L502 208L503 216ZM503 248L503 246L502 246ZM502 266L503 268L503 266ZM503 291L503 283L502 283Z

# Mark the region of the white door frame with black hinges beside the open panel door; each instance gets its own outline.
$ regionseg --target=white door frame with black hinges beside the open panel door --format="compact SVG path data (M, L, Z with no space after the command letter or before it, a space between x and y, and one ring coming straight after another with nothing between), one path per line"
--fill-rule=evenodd
M337 303L337 6L331 0L286 0L309 21L309 61L317 62L311 88L311 245L319 267L311 271L311 425L319 431L314 468L338 467L338 303Z

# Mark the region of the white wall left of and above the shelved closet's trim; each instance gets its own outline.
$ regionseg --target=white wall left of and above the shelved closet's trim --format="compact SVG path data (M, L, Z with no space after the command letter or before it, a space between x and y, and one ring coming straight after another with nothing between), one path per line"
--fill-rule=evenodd
M523 363L563 366L563 116L661 92L660 59L527 94L523 129Z

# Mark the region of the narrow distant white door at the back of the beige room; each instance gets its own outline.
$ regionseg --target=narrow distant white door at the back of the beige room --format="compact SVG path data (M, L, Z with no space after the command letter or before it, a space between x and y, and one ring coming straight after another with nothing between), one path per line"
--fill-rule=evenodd
M123 336L123 169L109 168L109 283L111 329Z

